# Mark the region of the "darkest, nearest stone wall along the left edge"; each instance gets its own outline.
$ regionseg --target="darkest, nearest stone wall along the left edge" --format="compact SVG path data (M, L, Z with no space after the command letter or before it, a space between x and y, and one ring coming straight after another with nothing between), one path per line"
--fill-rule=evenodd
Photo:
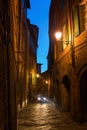
M15 1L13 1L14 3ZM18 5L14 4L14 8ZM0 129L17 129L16 61L13 38L12 1L0 0ZM18 7L18 6L17 6ZM16 16L14 18L15 21ZM14 21L14 22L15 22ZM17 22L17 21L16 21ZM15 26L15 30L18 25ZM14 122L14 123L13 123Z

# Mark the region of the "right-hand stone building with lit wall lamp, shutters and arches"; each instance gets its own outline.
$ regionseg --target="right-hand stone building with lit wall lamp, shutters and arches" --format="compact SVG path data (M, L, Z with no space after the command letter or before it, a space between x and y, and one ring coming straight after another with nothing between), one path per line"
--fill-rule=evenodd
M76 121L87 121L87 1L52 0L49 12L50 97ZM61 31L57 41L55 32Z

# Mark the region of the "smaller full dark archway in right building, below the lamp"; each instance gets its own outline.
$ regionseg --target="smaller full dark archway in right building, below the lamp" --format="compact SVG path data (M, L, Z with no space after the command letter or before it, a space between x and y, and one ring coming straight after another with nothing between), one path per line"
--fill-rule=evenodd
M68 76L64 76L62 80L62 108L70 111L70 80Z

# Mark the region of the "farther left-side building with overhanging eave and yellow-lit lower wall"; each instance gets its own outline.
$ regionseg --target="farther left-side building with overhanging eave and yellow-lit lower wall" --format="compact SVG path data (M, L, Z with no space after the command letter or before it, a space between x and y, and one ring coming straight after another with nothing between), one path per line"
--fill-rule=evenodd
M35 95L37 94L36 85L36 74L37 74L37 47L38 47L38 31L39 28L36 25L30 23L27 20L29 29L29 44L28 44L28 58L27 58L27 74L28 74L28 86L27 86L27 96L28 102L35 100Z

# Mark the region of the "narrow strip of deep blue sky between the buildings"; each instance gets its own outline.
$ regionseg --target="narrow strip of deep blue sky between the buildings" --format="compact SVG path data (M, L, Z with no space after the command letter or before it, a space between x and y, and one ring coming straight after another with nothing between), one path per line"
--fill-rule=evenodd
M48 23L49 6L51 0L30 0L31 9L28 10L27 17L31 24L39 27L37 62L43 64L41 72L47 70L47 55L49 49Z

